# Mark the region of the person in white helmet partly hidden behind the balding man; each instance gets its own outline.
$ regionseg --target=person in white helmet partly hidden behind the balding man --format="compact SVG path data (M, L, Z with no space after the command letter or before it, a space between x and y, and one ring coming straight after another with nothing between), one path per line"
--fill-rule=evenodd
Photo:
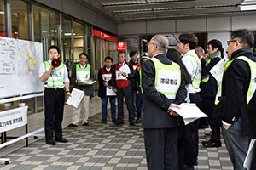
M137 120L136 122L142 122L143 93L142 93L142 87L140 82L140 70L142 67L142 63L144 61L147 61L148 59L149 59L148 53L144 53L141 58L141 63L137 65L135 75L134 75L135 79L137 80L137 91L136 91Z

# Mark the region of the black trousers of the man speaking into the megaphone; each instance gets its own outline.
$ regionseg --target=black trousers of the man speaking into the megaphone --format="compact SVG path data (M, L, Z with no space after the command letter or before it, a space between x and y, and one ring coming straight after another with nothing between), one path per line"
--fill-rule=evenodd
M46 141L62 138L65 92L63 88L44 90L44 132Z

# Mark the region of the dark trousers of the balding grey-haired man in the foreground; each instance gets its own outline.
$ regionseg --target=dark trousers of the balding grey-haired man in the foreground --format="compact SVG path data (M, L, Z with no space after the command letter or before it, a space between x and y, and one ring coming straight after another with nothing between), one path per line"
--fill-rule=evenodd
M144 128L148 170L177 170L177 127Z

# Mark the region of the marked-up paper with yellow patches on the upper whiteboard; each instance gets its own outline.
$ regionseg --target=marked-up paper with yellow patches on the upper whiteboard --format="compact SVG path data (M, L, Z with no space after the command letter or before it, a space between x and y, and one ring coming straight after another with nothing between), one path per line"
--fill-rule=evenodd
M42 44L0 37L0 51L0 74L38 74Z

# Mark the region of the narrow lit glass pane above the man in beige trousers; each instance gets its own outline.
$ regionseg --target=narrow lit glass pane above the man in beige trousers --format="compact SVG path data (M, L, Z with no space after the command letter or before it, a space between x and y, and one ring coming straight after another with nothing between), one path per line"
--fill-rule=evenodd
M79 54L84 52L84 26L73 21L73 58L74 62L79 62Z

